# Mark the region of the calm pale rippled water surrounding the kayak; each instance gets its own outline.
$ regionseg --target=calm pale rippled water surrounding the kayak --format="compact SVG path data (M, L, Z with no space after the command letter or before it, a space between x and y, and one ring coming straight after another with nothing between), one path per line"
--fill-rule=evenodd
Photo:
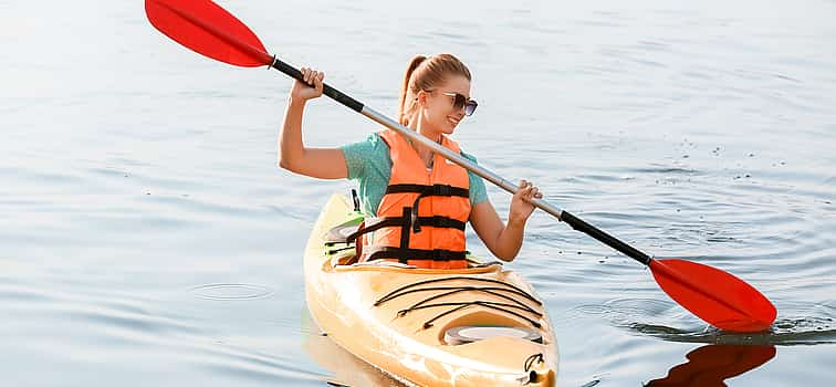
M389 114L411 55L458 54L480 108L456 138L481 164L778 308L771 333L720 334L537 212L508 266L548 306L561 385L836 383L834 1L222 4ZM0 46L4 385L391 383L307 315L307 232L352 185L274 167L288 79L181 49L140 1L0 1ZM305 139L377 129L321 100Z

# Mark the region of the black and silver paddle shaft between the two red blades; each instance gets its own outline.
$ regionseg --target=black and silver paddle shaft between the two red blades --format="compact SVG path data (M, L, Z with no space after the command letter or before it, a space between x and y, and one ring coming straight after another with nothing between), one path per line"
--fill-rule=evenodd
M302 75L302 72L299 71L296 67L282 62L278 57L273 57L273 62L270 64L271 67L279 70L291 77L299 80L300 82L304 82L304 76ZM503 179L499 175L485 169L484 167L474 164L464 157L461 157L461 155L441 146L440 144L422 136L416 130L412 130L400 123L387 117L384 114L380 114L376 112L375 109L365 106L363 103L360 103L357 100L352 98L351 96L344 94L343 92L327 85L323 84L323 94L330 96L334 101L345 105L346 107L363 114L364 116L370 118L372 121L388 127L389 129L393 129L404 137L407 137L411 139L412 142L420 143L421 145L432 149L435 153L440 154L446 159L456 163L457 165L461 166L462 168L472 171L473 174L479 175L483 179L493 182L498 187L513 194L516 194L516 185L512 184L509 180ZM645 254L644 252L635 249L634 247L618 240L617 238L604 232L603 230L581 220L579 218L575 217L574 215L566 212L564 210L561 210L560 208L551 205L550 202L543 200L543 199L536 199L532 198L531 203L534 205L534 207L548 212L553 217L557 218L557 220L566 222L568 226L571 226L573 229L584 232L589 237L593 237L600 241L602 243L624 253L625 255L635 259L636 261L649 265L651 258Z

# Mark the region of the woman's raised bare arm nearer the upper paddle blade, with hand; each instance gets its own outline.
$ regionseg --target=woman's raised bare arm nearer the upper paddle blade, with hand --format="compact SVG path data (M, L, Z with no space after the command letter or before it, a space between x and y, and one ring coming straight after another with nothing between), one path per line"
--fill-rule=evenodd
M322 95L322 80L325 74L302 67L302 74L307 83L293 81L288 109L284 112L284 124L279 136L279 166L292 172L316 177L321 179L344 179L348 177L343 149L339 148L305 148L302 142L302 115L309 100Z

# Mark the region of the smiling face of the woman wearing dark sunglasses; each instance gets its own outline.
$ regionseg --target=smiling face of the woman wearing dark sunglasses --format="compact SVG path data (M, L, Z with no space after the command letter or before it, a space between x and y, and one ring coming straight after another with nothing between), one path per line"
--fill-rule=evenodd
M461 75L448 76L446 82L431 91L421 92L419 100L424 102L425 124L433 132L452 134L461 118L464 117L464 108L453 106L454 94L470 98L470 81Z

